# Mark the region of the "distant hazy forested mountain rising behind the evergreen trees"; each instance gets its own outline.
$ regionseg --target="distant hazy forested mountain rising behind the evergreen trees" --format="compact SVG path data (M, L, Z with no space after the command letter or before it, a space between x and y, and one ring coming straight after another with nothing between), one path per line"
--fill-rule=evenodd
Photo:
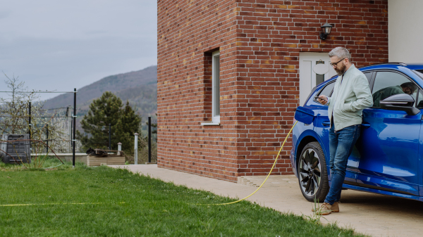
M157 113L157 65L136 72L104 77L78 89L76 96L78 121L87 113L90 103L102 96L104 91L113 92L124 104L128 100L142 115L142 121L146 121L149 115ZM61 108L68 105L73 105L73 94L61 94L50 98L44 103L43 108Z

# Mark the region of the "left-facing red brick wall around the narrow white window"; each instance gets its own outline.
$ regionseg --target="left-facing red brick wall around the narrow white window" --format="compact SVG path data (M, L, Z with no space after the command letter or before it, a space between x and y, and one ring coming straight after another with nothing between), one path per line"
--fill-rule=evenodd
M235 181L235 1L157 1L158 165ZM212 51L220 50L221 126L212 120Z

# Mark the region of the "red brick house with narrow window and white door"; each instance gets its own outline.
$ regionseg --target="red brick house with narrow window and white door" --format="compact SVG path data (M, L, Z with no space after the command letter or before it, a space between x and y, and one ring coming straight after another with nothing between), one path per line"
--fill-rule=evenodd
M158 165L237 181L267 174L336 46L388 61L388 1L158 0ZM326 40L321 26L333 26ZM328 65L329 67L329 65ZM290 143L272 174L292 174Z

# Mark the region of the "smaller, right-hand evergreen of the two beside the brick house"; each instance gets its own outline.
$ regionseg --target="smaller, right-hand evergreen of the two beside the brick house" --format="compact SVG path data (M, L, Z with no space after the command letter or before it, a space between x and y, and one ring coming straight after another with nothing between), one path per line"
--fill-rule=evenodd
M133 108L130 107L129 101L126 101L125 108L123 108L118 124L116 124L116 138L122 143L122 150L127 152L133 150L134 134L140 134L140 124L140 115L137 115Z

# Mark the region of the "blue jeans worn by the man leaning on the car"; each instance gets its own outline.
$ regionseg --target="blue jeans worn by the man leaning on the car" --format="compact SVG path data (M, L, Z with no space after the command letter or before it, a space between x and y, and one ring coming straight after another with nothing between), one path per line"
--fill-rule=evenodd
M341 199L342 184L345 179L345 171L347 169L348 157L353 152L355 142L360 136L360 124L345 127L339 131L335 131L335 126L329 130L329 152L331 160L331 188L324 200L325 203L333 205Z

